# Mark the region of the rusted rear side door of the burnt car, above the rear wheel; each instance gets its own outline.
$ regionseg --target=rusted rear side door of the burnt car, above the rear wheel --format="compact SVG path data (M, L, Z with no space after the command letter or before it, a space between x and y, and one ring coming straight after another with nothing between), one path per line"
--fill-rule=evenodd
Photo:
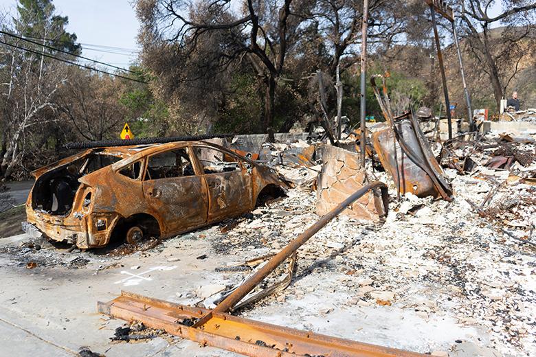
M195 174L189 148L176 148L147 158L144 197L171 235L207 222L208 194Z

